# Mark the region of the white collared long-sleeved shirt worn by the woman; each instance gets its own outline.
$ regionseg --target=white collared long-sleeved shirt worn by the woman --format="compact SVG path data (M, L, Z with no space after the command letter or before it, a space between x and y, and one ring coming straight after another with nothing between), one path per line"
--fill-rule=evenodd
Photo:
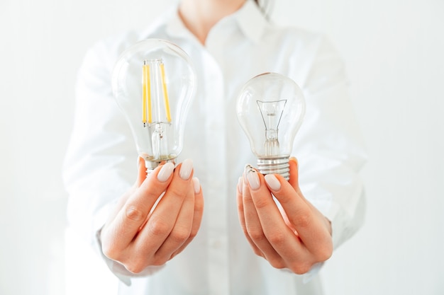
M79 70L64 168L70 229L99 249L96 233L116 199L135 181L138 155L111 93L111 71L123 50L149 37L176 43L196 67L197 95L178 161L194 161L194 175L204 191L204 217L198 235L181 254L160 269L148 268L142 278L131 278L121 265L104 258L119 278L106 287L113 286L114 294L134 295L321 294L316 276L304 284L303 276L274 269L257 257L240 229L236 184L245 164L256 161L235 115L240 88L253 76L272 71L303 89L306 117L293 156L299 160L301 191L332 222L335 248L362 223L358 171L365 152L343 62L331 44L322 35L270 24L250 0L211 29L205 46L184 27L176 8L148 30L104 40L89 50ZM81 251L74 252L67 255L82 262ZM83 263L80 273L68 274L86 273L89 262ZM105 282L99 281L100 290ZM95 288L82 294L89 294L87 289Z

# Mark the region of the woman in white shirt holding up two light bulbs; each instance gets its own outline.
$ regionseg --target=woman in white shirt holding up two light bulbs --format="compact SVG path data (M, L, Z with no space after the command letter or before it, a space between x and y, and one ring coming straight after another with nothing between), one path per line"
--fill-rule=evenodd
M199 88L186 160L146 179L139 161L131 185L135 148L109 78L118 55L150 37L190 55ZM289 76L306 96L294 146L299 165L292 158L288 182L244 171L255 158L235 99L267 71ZM277 28L252 0L182 0L148 30L93 47L80 69L65 183L70 225L116 274L118 294L321 294L316 270L363 217L357 172L365 154L345 82L324 37Z

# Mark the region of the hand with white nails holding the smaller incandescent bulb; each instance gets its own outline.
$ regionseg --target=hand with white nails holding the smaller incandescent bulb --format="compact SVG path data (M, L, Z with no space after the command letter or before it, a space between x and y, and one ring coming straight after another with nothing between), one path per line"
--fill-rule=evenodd
M331 223L299 190L296 159L291 158L289 164L289 181L281 175L264 177L247 166L238 184L238 214L257 255L273 267L304 274L331 257Z

